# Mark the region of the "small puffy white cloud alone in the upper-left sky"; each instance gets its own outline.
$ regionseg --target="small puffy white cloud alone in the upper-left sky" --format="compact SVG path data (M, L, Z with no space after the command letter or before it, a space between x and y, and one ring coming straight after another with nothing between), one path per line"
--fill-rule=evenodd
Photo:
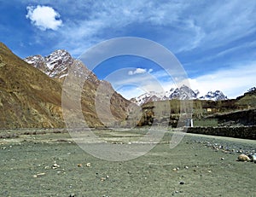
M27 6L26 19L40 30L57 30L62 25L61 15L49 6Z

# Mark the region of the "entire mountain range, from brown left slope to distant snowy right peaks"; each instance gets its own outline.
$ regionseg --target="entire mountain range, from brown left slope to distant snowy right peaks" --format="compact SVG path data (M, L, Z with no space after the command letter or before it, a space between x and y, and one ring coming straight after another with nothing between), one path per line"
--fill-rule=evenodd
M83 62L74 59L67 50L58 49L47 56L32 55L21 60L6 45L0 43L0 128L66 127L62 94L69 98L68 112L76 119L74 112L77 109L73 108L73 95L63 89L65 79L70 76L68 71L73 65L76 67L73 73L75 78L83 78L86 73L84 84L79 84L82 89L80 104L84 119L90 127L102 127L108 122L122 124L131 115L131 110L140 109L137 105L141 106L149 101L212 100L212 105L215 105L215 101L227 100L227 96L220 90L209 91L207 95L200 96L198 90L191 90L183 85L161 93L151 91L127 101L113 90L110 83L99 80ZM77 85L69 84L71 90L76 90ZM100 92L102 97L99 100L97 90L101 86L104 92ZM224 103L230 109L255 107L254 93L255 89L239 97L237 101L227 100ZM104 101L106 98L109 99L109 105ZM96 107L96 101L100 103L100 107ZM97 110L101 110L101 117Z

